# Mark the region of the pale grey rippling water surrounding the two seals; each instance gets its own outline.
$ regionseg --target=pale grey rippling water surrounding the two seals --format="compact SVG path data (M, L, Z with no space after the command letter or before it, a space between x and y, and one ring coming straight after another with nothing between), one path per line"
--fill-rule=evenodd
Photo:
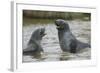
M91 43L91 23L90 21L68 21L72 33L82 42ZM44 49L42 55L25 56L23 62L43 62L43 61L63 61L63 60L87 60L91 58L91 48L85 48L76 54L62 52L59 46L57 29L54 23L46 23L43 25L27 25L23 27L23 49L27 47L27 43L31 34L37 28L45 27L47 35L43 37L41 45Z

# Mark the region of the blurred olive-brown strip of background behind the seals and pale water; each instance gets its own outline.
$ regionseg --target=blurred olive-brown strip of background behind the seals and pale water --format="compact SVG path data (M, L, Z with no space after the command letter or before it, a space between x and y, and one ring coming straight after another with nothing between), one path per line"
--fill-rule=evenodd
M56 19L90 21L90 13L23 10L23 24L48 23Z

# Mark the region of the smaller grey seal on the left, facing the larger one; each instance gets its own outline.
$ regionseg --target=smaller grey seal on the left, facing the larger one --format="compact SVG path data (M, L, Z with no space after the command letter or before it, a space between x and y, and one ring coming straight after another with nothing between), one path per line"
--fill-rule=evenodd
M23 50L23 55L40 55L43 48L40 45L43 36L45 35L45 28L36 29L27 44L27 48Z

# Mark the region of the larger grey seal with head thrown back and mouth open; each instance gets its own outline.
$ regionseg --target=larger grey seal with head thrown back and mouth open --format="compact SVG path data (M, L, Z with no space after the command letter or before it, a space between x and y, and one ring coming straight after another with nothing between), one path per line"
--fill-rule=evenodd
M57 19L55 25L58 29L59 44L62 51L76 53L83 48L90 47L88 43L83 43L76 39L65 20Z

